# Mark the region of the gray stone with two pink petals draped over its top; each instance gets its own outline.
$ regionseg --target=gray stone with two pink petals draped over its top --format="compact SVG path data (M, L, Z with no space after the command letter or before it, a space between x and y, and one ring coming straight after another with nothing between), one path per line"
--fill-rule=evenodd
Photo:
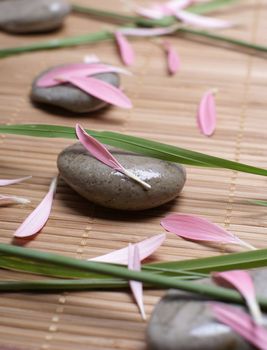
M62 65L61 67L64 66L65 65ZM69 83L52 87L38 87L36 85L37 80L54 68L55 67L45 70L36 77L32 84L32 101L61 107L76 113L93 112L109 105L107 102L87 94ZM95 74L93 77L103 80L115 87L119 87L120 85L120 77L117 73L101 73Z

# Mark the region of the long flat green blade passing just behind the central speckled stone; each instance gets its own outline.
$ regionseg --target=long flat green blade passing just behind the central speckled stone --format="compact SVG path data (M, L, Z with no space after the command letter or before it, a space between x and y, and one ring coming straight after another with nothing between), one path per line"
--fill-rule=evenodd
M163 159L166 161L182 163L192 166L216 167L245 173L267 176L267 170L253 167L251 165L233 162L227 159L213 157L204 153L191 151L185 148L175 147L168 144L150 141L140 137L119 134L109 131L87 132L99 141L122 148L127 151L141 153L150 157ZM72 127L42 124L17 124L0 125L0 133L16 134L34 137L52 137L75 139L75 130Z

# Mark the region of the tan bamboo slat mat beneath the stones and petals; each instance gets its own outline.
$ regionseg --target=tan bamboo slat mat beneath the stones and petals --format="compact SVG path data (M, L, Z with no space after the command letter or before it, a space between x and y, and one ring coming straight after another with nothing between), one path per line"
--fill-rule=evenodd
M77 3L125 13L130 5L129 1L118 0ZM225 10L221 16L240 24L227 34L267 45L266 0L242 0L234 10ZM1 33L0 46L79 35L107 27L109 25L84 16L70 15L64 28L54 34ZM266 58L186 38L170 40L182 59L181 71L175 77L167 76L164 53L157 41L133 40L137 56L132 69L134 76L123 77L125 91L134 104L130 111L110 108L78 116L41 110L29 101L32 79L49 66L79 62L92 53L104 62L120 64L112 42L3 59L0 62L0 121L70 126L80 122L90 129L129 133L267 168ZM195 114L203 92L214 87L219 89L218 125L215 135L206 138L196 127ZM33 175L30 181L1 188L3 194L24 196L32 201L27 206L1 208L1 242L11 242L14 230L44 196L57 173L57 154L71 142L0 136L0 178ZM162 216L184 212L221 224L256 247L267 247L266 209L248 202L252 198L267 199L266 178L190 167L187 172L188 180L178 200L143 213L125 214L94 206L60 182L51 217L28 246L86 259L160 233ZM231 251L234 250L205 247L168 234L151 261ZM21 278L18 273L0 273L1 279ZM148 315L162 293L145 291ZM127 292L5 294L0 298L0 314L1 345L30 350L146 348L146 323Z

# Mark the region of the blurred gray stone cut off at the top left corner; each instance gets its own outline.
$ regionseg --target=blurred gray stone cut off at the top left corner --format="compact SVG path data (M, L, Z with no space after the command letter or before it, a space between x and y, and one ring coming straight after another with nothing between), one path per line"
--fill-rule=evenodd
M11 33L45 32L60 27L70 11L64 0L4 0L0 28Z

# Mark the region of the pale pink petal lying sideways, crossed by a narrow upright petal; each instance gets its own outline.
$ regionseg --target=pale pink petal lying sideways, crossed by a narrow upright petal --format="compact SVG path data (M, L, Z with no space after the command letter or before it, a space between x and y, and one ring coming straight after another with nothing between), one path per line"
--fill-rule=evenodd
M135 243L135 245L139 249L140 260L142 261L146 259L148 256L150 256L151 254L153 254L162 245L165 239L166 239L166 234L162 233L162 234L147 238L141 242ZM129 253L129 249L128 247L125 247L118 250L114 250L111 253L101 255L96 258L88 259L88 260L127 265L129 261L128 253Z

